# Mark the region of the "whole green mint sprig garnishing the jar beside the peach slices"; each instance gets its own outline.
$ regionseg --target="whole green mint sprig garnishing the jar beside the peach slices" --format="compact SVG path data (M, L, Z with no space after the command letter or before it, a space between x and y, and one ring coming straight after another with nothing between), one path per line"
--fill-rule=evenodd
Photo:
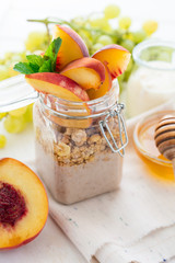
M60 37L54 39L45 52L44 56L28 55L27 62L19 62L14 65L14 70L20 73L31 75L37 72L55 72L56 61L62 39Z

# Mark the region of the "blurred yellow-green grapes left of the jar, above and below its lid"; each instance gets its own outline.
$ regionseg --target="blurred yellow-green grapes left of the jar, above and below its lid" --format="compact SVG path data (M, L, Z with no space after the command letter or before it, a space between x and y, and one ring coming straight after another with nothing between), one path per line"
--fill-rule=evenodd
M8 79L18 75L13 66L19 61L25 61L26 55L40 53L46 49L48 37L46 32L32 32L26 42L25 50L22 53L7 53L4 58L0 59L0 80ZM3 122L4 129L10 134L23 132L28 123L33 122L33 104L8 112L0 113L0 122ZM7 145L7 138L0 134L0 149Z

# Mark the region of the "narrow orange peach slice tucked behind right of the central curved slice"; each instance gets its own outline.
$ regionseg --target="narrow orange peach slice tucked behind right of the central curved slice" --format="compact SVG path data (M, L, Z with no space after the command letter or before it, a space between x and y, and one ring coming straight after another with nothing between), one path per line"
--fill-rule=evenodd
M97 98L101 98L107 93L112 88L112 76L109 73L108 68L105 66L105 81L100 87L98 90L90 89L86 91L89 94L90 100L95 100Z

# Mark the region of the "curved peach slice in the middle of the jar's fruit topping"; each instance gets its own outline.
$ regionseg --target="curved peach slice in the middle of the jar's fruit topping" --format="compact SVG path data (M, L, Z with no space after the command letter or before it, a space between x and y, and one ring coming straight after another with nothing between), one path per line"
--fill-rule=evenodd
M84 90L98 89L105 80L104 65L94 58L80 58L66 66L60 72L74 80Z

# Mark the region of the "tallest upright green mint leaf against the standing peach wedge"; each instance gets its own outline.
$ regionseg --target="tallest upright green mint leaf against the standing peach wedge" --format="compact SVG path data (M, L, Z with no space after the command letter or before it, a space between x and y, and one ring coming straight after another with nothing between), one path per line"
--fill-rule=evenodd
M59 48L61 46L61 43L62 43L62 39L60 37L54 39L51 42L51 44L48 46L48 48L47 48L47 50L44 55L44 58L50 58L51 59L52 72L56 69L57 55L58 55Z

